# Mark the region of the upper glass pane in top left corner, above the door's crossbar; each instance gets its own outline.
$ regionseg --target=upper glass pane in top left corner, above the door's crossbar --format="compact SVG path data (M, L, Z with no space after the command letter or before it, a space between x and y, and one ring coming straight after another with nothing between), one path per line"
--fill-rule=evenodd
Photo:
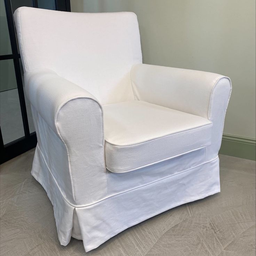
M12 54L7 18L5 12L5 2L0 0L0 55Z

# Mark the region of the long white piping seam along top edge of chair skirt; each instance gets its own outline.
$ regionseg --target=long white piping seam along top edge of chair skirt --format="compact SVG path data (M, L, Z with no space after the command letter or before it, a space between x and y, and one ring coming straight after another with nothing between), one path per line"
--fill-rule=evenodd
M43 156L43 153L41 152L41 150L40 150L39 147L38 147L38 149L39 149L40 154L41 154L42 157L43 157L43 161L45 162L47 169L49 170L49 173L50 173L51 176L53 177L53 180L54 180L55 184L57 185L57 187L58 187L58 189L59 189L59 192L62 194L64 200L65 200L67 203L69 203L71 206L76 207L76 208L83 208L83 207L95 205L96 203L99 203L99 202L101 202L101 201L104 201L104 200L106 200L106 199L108 199L108 198L110 198L110 197L115 197L115 196L117 196L117 195L119 195L119 194L123 194L123 193L129 192L129 191L131 191L131 190L139 189L140 187L144 187L144 186L147 186L147 185L150 185L150 184L153 184L153 183L162 181L163 179L167 179L167 178L169 178L169 177L171 177L171 176L175 176L175 175L178 175L178 174L181 174L181 173L185 173L186 171L190 171L190 170L192 170L192 169L194 169L194 168L197 168L197 167L199 167L199 166L201 166L201 165L205 165L206 163L213 162L213 161L215 161L216 159L218 159L218 155L217 155L217 157L215 157L214 159L212 159L212 160L210 160L210 161L203 162L203 163L201 163L200 165L194 166L194 167L192 167L192 168L190 168L190 169L186 169L186 170L184 170L184 171L180 171L179 173L175 173L175 174L172 174L172 175L168 175L168 176L166 176L166 177L164 177L164 178L161 178L161 179L158 179L158 180L156 180L156 181L152 181L152 182L143 184L143 185L141 185L141 186L133 187L133 188L131 188L131 189L128 189L128 190L125 190L125 191L122 191L122 192L119 192L119 193L115 193L115 194L112 194L112 195L109 195L109 196L104 197L104 198L102 198L102 199L100 199L100 200L98 200L98 201L95 201L95 202L92 202L92 203L88 203L87 205L74 205L74 204L72 204L72 203L65 197L65 195L62 193L62 190L60 189L59 185L58 185L57 182L56 182L55 177L53 176L53 174L51 173L51 170L50 170L49 166L47 165L47 162L46 162L46 160L45 160L45 157Z

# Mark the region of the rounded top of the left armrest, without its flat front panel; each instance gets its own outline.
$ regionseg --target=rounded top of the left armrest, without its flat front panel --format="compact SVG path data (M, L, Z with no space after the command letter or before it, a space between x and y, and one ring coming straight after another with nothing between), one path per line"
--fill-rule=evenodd
M96 98L85 89L60 77L50 69L35 69L24 74L26 95L35 110L58 134L58 115L62 107L75 99L94 101L102 110ZM72 116L70 117L72 118Z

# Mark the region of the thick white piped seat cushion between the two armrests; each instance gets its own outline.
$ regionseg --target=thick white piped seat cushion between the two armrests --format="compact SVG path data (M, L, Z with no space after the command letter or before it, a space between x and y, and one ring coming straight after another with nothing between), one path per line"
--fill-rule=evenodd
M103 106L105 161L133 171L211 144L212 122L159 105L129 101Z

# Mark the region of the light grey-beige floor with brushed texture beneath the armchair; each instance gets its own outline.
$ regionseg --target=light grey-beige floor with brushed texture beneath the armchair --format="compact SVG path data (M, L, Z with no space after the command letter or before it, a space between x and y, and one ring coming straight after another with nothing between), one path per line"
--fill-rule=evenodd
M1 165L1 256L254 256L255 161L220 155L221 193L129 228L85 253L61 246L53 207L31 176L34 150Z

